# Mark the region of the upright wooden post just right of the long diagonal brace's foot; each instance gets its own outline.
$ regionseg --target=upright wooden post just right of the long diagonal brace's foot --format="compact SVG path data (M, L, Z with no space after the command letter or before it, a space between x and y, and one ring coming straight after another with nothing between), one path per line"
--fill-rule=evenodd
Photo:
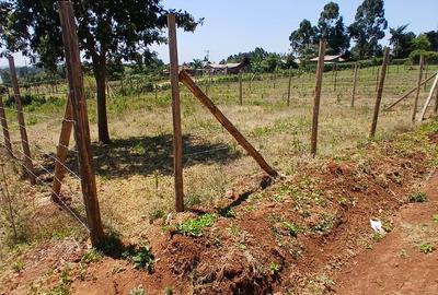
M321 104L321 90L322 90L322 76L324 72L324 55L325 55L325 40L320 40L319 58L316 66L316 85L313 102L313 120L312 120L312 135L311 135L311 150L312 156L316 155L318 146L318 123L320 116L320 104Z

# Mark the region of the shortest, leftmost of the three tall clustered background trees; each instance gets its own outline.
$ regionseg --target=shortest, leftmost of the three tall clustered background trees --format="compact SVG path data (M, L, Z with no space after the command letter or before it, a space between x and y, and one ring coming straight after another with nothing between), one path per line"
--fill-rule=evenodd
M303 20L299 28L293 31L290 36L290 46L301 58L309 58L315 54L316 27L312 26L309 20Z

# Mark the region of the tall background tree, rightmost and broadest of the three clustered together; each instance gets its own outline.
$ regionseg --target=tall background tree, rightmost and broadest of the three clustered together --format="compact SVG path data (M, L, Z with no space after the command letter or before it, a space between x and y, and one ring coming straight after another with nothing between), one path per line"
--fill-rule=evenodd
M364 59L381 55L379 40L384 37L387 27L383 0L364 0L357 9L355 22L348 27L356 42L351 50L354 56Z

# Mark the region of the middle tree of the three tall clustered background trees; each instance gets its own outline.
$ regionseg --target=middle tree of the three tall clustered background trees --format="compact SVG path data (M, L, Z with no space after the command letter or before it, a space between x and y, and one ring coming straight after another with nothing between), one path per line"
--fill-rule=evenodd
M349 48L349 35L337 3L325 4L318 22L318 34L326 40L326 52L330 55L344 54Z

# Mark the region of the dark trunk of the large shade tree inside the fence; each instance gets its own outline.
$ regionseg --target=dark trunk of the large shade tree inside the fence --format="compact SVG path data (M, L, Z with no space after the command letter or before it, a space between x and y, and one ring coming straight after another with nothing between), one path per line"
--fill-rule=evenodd
M99 141L102 143L110 143L108 121L106 118L106 93L105 93L105 81L106 81L106 59L101 57L93 59L93 72L96 81L97 91L97 129L99 129Z

